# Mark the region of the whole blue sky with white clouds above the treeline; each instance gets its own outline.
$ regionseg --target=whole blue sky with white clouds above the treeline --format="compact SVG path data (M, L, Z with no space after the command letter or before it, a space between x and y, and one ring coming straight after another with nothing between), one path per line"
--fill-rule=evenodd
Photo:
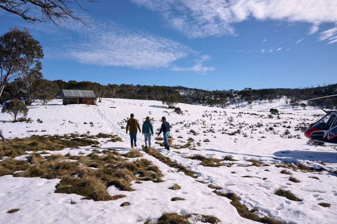
M43 76L210 90L337 83L336 0L101 0L73 7L90 27L30 24L0 10L0 33L27 27ZM38 13L38 12L36 12Z

